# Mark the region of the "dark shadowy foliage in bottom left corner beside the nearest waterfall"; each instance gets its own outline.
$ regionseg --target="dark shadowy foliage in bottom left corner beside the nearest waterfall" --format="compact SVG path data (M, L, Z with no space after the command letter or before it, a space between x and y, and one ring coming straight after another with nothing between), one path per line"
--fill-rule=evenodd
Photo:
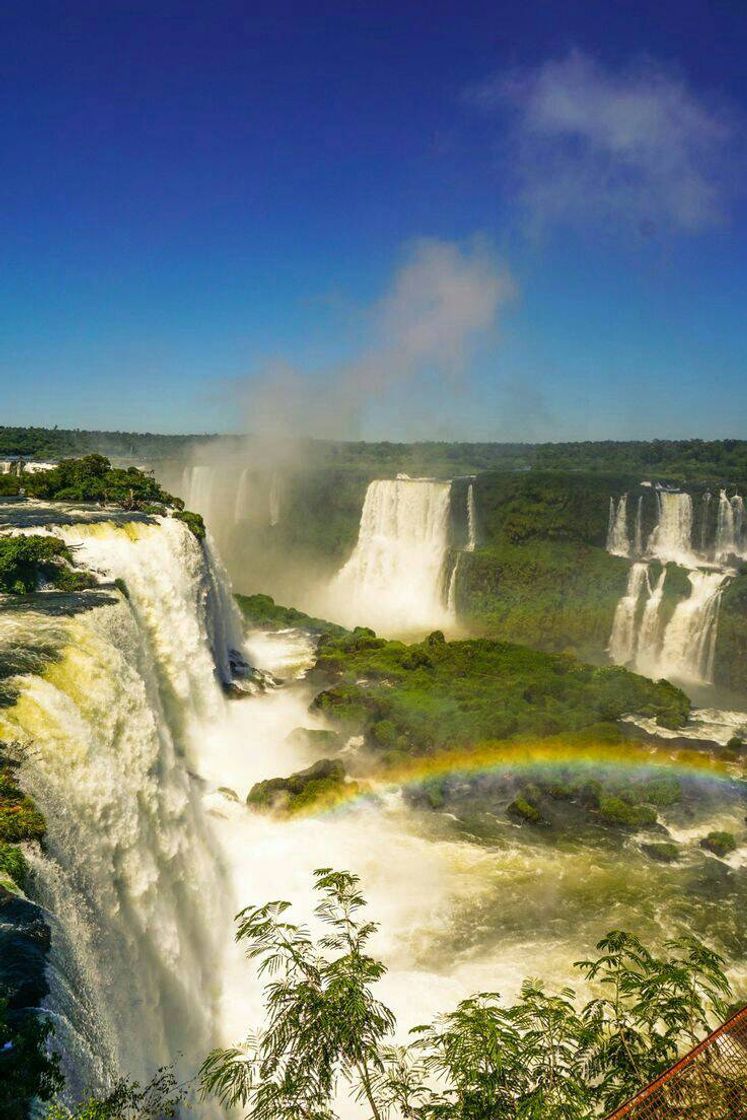
M35 1011L13 1011L0 996L0 1116L27 1120L32 1098L49 1101L62 1089L58 1060L47 1053L52 1026Z

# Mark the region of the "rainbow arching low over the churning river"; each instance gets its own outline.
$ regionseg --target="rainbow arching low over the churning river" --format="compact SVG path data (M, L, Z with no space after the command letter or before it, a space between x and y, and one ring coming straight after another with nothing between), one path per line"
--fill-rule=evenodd
M545 774L585 771L594 774L619 774L628 777L669 774L683 780L715 784L735 784L746 776L744 766L708 752L672 749L633 740L622 743L579 743L557 738L536 743L482 743L475 747L445 750L428 757L410 758L376 771L365 778L328 791L301 810L318 815L335 812L357 801L371 801L392 790L415 787L439 778L468 778L523 771Z

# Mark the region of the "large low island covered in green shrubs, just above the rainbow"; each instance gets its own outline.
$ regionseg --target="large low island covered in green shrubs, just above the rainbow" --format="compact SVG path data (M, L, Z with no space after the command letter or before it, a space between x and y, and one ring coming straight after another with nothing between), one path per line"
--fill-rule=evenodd
M678 727L690 710L665 681L488 638L404 645L356 633L320 647L312 680L329 685L315 706L330 719L362 724L374 747L414 753L542 738L627 712Z

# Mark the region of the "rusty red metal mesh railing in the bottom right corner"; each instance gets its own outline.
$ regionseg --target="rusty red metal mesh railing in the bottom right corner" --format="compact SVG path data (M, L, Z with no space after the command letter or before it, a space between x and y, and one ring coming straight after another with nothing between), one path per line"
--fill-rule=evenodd
M747 1120L747 1007L607 1120Z

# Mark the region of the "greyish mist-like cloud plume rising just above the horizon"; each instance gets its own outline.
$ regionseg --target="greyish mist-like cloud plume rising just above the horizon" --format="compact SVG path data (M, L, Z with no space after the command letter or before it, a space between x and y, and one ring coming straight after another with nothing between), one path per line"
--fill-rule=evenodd
M349 438L373 426L401 438L450 422L470 355L513 293L485 245L414 242L349 362L316 371L277 362L243 382L248 429Z

